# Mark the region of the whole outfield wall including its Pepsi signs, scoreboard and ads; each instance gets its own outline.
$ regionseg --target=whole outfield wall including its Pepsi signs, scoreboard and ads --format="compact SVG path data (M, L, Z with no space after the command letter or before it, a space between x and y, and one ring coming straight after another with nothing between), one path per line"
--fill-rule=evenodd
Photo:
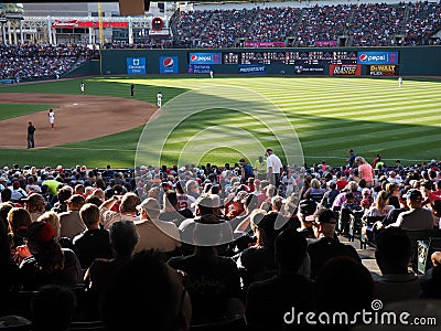
M103 50L101 75L441 76L441 46Z

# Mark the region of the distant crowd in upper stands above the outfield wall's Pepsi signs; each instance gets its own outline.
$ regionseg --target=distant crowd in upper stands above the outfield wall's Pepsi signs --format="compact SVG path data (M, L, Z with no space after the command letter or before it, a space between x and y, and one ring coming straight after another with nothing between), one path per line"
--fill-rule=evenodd
M349 46L426 45L438 42L431 36L440 30L440 3L427 1L191 11L181 13L175 39L197 47L288 39L295 46L318 46L337 43L338 36Z

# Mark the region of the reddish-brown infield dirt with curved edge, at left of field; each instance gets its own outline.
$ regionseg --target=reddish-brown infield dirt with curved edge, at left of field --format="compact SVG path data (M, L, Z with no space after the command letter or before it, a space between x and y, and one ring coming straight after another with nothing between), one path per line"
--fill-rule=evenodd
M35 148L98 138L139 127L152 118L155 105L117 97L67 94L2 93L1 104L56 105L55 129L49 109L0 121L0 148L26 148L28 122L36 128Z

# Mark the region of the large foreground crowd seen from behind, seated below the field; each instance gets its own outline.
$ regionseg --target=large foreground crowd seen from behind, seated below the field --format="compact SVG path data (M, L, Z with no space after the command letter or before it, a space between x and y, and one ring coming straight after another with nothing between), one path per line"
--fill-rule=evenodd
M268 171L275 158L268 149ZM0 305L0 318L19 314L37 330L71 320L120 330L146 319L154 330L189 330L245 316L247 330L280 330L292 307L351 314L372 309L374 298L441 298L440 254L428 279L418 276L406 234L439 231L441 162L386 166L379 154L369 162L351 150L345 166L282 166L273 181L258 167L265 160L252 161L4 167L0 295L19 305ZM365 229L376 232L381 275L340 242L345 209L381 217ZM25 301L24 291L37 296ZM57 319L36 307L51 295L71 307ZM139 309L118 305L135 298L143 299ZM29 303L28 314L20 308Z

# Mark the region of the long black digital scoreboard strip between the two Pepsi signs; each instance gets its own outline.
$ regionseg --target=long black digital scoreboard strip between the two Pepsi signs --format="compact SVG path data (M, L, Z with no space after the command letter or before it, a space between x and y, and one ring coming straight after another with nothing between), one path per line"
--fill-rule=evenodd
M224 52L223 64L356 64L356 51Z

